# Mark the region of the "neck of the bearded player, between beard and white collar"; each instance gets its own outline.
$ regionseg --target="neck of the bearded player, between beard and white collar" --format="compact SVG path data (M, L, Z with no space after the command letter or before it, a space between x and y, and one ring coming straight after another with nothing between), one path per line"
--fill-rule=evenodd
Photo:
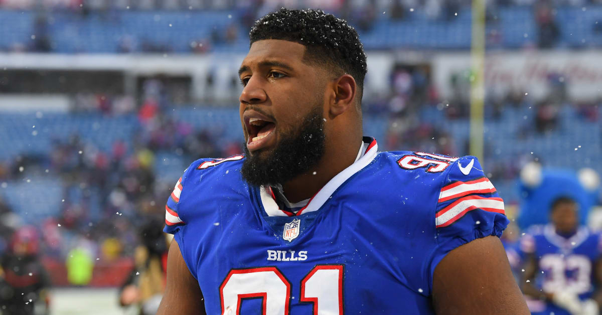
M312 198L330 179L355 162L360 144L361 141L355 140L339 148L327 145L317 166L282 184L284 196L293 203Z

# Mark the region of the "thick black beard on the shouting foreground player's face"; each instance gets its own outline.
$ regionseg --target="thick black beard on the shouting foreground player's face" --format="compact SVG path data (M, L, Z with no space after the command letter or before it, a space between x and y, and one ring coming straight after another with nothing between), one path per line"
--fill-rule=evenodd
M324 155L326 136L321 104L303 118L296 130L282 133L281 140L267 154L249 154L240 172L252 186L284 184L316 166Z

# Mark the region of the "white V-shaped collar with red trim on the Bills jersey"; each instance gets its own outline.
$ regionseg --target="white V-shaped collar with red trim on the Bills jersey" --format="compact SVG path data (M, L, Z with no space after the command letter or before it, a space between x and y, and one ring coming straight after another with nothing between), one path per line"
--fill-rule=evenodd
M361 156L360 152L358 156L361 156L359 159L355 161L355 163L348 166L342 172L335 175L329 182L324 185L318 192L309 199L309 202L305 207L301 208L297 213L291 213L290 211L281 210L276 204L274 200L274 196L272 190L269 187L260 187L259 188L259 196L261 199L261 204L264 207L265 213L268 216L299 216L302 213L308 213L312 211L317 211L324 205L324 203L330 198L330 196L338 189L344 182L347 181L353 174L359 172L359 170L366 167L374 157L376 157L376 153L378 151L378 145L376 144L376 140L371 137L364 137L362 148L365 148L363 152L364 155Z

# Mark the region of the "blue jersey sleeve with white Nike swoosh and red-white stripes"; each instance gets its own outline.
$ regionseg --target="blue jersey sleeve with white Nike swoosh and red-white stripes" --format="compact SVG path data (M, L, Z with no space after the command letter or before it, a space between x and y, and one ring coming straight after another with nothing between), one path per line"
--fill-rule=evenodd
M509 223L504 201L475 157L450 164L435 206L438 246L430 274L445 255L465 243L489 235L500 237Z

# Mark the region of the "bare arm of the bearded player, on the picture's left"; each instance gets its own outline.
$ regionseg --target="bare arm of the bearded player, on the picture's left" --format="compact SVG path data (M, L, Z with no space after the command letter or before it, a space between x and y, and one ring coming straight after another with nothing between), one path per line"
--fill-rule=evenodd
M167 255L167 285L157 315L205 313L205 301L199 282L188 270L178 243L169 246Z

